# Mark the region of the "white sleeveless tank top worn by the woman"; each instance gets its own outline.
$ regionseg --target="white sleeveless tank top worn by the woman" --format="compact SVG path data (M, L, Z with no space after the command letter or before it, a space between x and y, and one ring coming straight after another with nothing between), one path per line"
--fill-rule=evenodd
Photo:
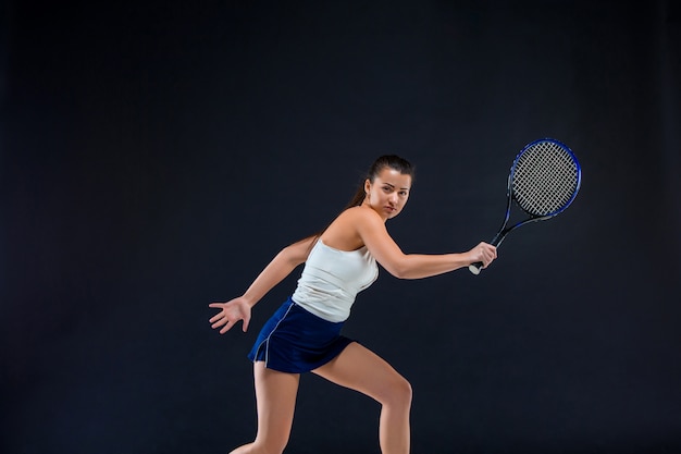
M377 277L376 260L366 246L357 250L339 250L318 240L292 298L324 320L345 321L357 294Z

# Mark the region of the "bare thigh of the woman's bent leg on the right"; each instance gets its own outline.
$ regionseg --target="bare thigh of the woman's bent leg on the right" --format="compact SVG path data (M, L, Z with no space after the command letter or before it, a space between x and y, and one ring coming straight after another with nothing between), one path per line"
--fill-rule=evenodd
M357 342L312 372L381 403L393 400L396 394L408 398L411 395L409 382L393 366Z

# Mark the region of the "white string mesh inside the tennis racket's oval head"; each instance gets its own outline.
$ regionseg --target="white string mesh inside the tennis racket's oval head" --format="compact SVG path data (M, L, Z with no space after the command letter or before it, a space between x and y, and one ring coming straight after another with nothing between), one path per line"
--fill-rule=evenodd
M572 155L553 142L541 142L515 164L512 191L518 205L535 216L559 211L578 188L578 164Z

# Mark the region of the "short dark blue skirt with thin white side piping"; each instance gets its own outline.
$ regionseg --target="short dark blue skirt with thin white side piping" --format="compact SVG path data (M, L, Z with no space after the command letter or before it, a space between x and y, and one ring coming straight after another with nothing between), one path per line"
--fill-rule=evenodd
M248 358L281 372L309 372L355 342L340 335L343 323L310 314L289 297L264 323Z

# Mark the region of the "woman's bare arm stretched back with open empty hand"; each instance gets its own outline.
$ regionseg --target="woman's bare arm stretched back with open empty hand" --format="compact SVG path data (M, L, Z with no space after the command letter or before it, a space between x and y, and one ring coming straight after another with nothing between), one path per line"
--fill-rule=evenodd
M283 248L270 263L260 272L246 292L226 303L211 303L209 307L222 309L209 321L213 329L223 327L221 334L230 331L239 320L244 321L244 332L250 321L250 309L276 284L282 282L300 263L304 263L317 236L310 236Z

